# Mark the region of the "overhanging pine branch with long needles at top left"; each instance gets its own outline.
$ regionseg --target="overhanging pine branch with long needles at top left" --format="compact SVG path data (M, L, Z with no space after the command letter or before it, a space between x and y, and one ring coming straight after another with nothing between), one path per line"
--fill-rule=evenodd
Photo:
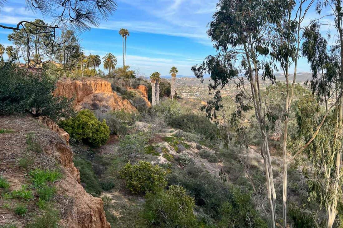
M19 21L16 26L0 24L0 28L22 31L21 39L26 39L27 64L32 67L32 53L35 48L30 43L30 37L35 36L36 40L48 37L44 42L45 53L50 56L63 43L56 39L56 31L66 26L73 31L86 31L91 27L98 27L101 20L107 20L117 9L115 0L23 0L26 9L32 13L41 13L49 16L53 21L51 24ZM0 11L7 0L0 0ZM36 53L35 53L36 54Z

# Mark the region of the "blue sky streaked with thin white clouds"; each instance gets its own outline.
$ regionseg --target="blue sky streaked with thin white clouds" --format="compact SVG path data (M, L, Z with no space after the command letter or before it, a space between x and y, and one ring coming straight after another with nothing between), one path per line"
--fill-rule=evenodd
M118 9L98 28L80 34L85 54L107 52L117 56L122 66L122 38L120 28L127 28L127 65L150 75L154 71L169 74L171 66L180 75L193 75L191 67L215 50L206 34L217 0L117 0ZM315 14L311 12L315 17ZM25 10L25 0L9 0L1 9L0 23L14 25L21 20L44 18ZM7 36L11 30L0 28L0 43L11 45ZM5 56L6 57L6 56ZM309 71L307 61L301 59L299 71Z

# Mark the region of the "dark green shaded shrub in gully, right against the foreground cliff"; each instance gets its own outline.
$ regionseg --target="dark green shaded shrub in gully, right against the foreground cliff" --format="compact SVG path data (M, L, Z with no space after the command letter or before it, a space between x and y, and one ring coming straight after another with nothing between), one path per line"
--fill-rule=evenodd
M97 176L94 173L92 164L79 156L74 156L73 161L75 167L79 169L81 185L83 188L86 190L86 192L90 193L94 197L98 197L98 195L102 192L102 188Z

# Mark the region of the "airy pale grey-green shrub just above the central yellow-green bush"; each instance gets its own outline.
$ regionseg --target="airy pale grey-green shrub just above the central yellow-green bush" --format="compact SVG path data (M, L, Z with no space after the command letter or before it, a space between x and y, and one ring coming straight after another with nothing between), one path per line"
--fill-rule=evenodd
M127 161L133 163L135 158L143 152L147 142L148 136L146 132L140 131L123 137L119 142L119 150Z

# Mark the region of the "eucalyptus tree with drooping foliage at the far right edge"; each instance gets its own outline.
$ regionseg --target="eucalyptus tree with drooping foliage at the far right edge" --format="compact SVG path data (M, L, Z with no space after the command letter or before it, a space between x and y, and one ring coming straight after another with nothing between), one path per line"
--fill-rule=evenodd
M316 95L317 101L325 103L326 112L322 112L327 119L323 122L313 112L313 106L308 103L298 104L298 127L300 139L308 139L310 132L314 132L316 126L322 126L317 137L305 150L309 161L314 167L316 178L308 176L309 199L319 201L320 206L326 209L326 227L331 228L338 213L338 203L342 202L342 146L343 146L343 11L340 0L324 0L317 3L317 13L320 18L331 16L334 24L329 24L336 29L333 37L333 45L328 45L320 29L323 25L320 20L304 32L303 54L311 64L312 78L310 89ZM329 15L323 15L322 10L330 9ZM331 12L332 11L332 12ZM329 22L325 22L328 26ZM328 108L328 101L333 105ZM331 111L332 109L332 111ZM304 121L304 118L311 121ZM321 122L320 122L321 121Z

